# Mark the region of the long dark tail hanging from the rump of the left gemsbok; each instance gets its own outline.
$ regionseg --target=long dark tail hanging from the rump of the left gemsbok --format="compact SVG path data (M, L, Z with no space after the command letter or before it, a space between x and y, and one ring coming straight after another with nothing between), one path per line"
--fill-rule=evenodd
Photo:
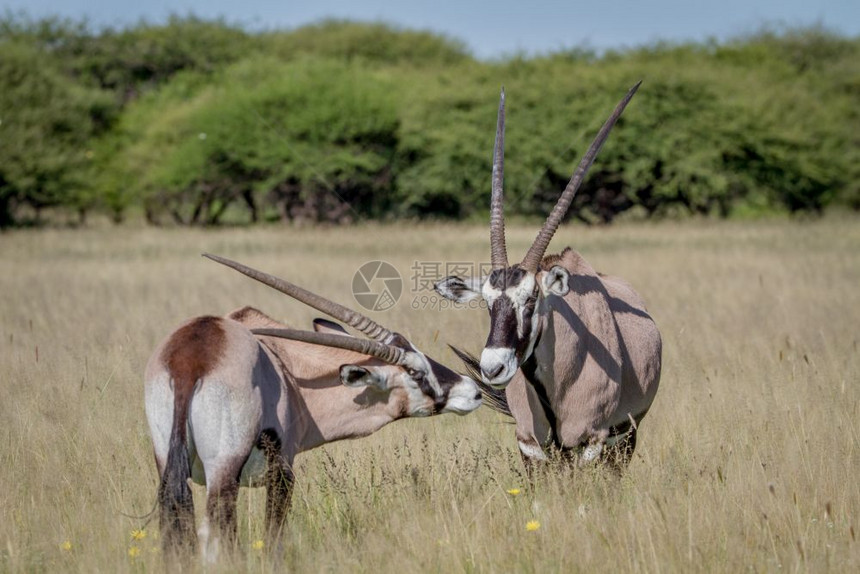
M191 463L188 460L188 406L194 392L195 381L173 379L173 428L167 464L158 485L158 505L161 509L160 526L162 544L166 552L183 548L193 549L194 500L188 479Z

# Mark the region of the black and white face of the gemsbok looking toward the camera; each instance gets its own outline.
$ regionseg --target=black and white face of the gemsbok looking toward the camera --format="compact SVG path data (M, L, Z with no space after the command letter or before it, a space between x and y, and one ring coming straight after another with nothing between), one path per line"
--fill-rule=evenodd
M490 309L481 375L488 385L504 388L534 347L540 291L535 275L515 265L493 271L481 294Z

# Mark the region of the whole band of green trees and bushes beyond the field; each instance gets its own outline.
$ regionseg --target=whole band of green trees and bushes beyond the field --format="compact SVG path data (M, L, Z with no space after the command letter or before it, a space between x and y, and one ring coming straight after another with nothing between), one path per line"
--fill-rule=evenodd
M483 216L502 85L507 210L542 216L638 80L572 217L860 209L860 39L821 28L480 61L385 24L7 14L0 227Z

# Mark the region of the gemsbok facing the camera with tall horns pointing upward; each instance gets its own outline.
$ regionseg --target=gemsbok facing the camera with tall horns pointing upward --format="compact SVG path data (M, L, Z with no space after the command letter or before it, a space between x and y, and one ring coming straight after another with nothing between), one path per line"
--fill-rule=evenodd
M489 277L449 276L436 291L483 297L490 333L480 361L458 352L483 379L485 398L516 420L527 468L545 449L583 463L623 468L637 425L660 381L662 342L642 299L621 279L597 273L569 247L544 257L553 234L636 84L601 128L522 263L509 265L502 207L505 94L493 154ZM504 389L504 391L502 391Z

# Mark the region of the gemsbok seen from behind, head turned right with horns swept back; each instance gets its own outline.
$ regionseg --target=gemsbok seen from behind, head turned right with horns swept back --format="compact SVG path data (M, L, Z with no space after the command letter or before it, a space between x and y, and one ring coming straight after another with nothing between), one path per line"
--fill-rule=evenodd
M367 436L404 417L466 414L481 404L475 381L441 365L399 333L283 279L207 255L343 321L373 340L317 319L315 332L286 328L244 307L187 321L146 367L146 416L161 482L165 550L193 547L192 478L206 485L198 531L205 559L234 541L239 485L266 486L266 525L276 541L297 453ZM215 531L210 529L217 526Z

